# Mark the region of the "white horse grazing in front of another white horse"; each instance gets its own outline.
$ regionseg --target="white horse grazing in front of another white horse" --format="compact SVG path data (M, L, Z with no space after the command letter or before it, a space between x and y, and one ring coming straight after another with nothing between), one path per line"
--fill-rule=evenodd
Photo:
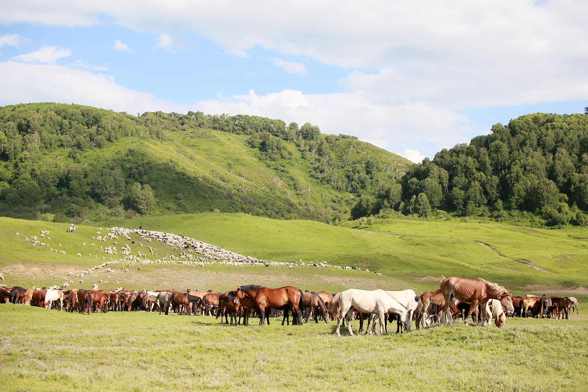
M385 313L392 312L400 315L400 320L405 325L410 324L409 310L400 304L397 300L392 298L384 290L358 290L350 288L339 295L339 305L341 311L337 318L336 335L340 336L339 328L343 317L347 317L347 327L349 336L353 336L351 328L351 315L353 309L367 314L375 314L373 323L380 320L380 333L384 333L384 322L386 320ZM410 328L410 327L409 327ZM371 332L371 331L370 331Z

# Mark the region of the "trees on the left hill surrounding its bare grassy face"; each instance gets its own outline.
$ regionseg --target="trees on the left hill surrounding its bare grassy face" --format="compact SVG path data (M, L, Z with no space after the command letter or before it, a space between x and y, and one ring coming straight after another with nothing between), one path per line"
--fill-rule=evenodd
M340 192L323 205L299 206L288 198L260 201L256 195L231 194L222 181L197 178L151 161L132 148L114 163L93 168L84 157L124 138L164 141L171 131L215 129L248 135L266 165L280 169L294 154L308 161L316 180ZM248 212L274 218L342 220L349 216L353 197L372 192L378 184L398 179L402 172L386 172L385 162L369 153L349 158L342 141L361 144L349 135L325 135L316 125L286 125L281 120L248 115L205 115L162 111L130 115L126 112L52 103L19 104L0 108L0 214L12 217L83 221L155 211ZM365 145L365 144L364 144ZM109 152L109 154L112 154ZM120 152L118 154L121 154ZM172 181L173 179L173 181ZM156 183L178 188L171 204L158 202ZM203 182L213 184L212 187ZM186 200L181 186L198 188L202 201ZM220 191L215 189L220 188ZM296 191L306 191L303 184ZM345 197L344 195L350 195ZM218 205L215 205L215 202ZM341 204L346 204L347 207ZM347 210L345 211L345 208Z

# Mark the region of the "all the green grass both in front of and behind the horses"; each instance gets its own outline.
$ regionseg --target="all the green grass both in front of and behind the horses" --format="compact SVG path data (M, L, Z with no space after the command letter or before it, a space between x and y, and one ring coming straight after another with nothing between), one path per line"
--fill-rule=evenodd
M113 225L188 235L262 260L325 260L362 271L135 264L128 272L102 268L80 283L75 276L80 271L109 260L99 247L114 241L92 236ZM260 327L253 319L248 327L221 326L201 315L85 315L3 304L1 390L587 389L586 228L543 230L459 219L328 225L219 213L135 217L79 225L75 233L66 232L68 226L0 218L2 283L214 291L290 284L332 292L351 287L420 292L438 287L441 275L459 275L497 281L516 294L573 295L580 314L570 320L509 318L506 328L458 323L375 337L348 337L343 328L338 338L333 322L282 327L274 319ZM51 240L39 237L45 247L25 240L41 230L50 231ZM158 241L140 248L139 237L132 238L133 253L152 246L159 256L176 254ZM118 247L129 243L123 237L117 242ZM358 321L352 325L357 331Z

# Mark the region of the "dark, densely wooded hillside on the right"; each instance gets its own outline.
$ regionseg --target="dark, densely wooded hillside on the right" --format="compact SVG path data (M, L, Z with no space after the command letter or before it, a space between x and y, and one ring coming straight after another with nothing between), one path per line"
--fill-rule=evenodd
M496 124L491 134L443 149L386 190L363 195L352 215L389 209L587 225L588 115L536 113Z

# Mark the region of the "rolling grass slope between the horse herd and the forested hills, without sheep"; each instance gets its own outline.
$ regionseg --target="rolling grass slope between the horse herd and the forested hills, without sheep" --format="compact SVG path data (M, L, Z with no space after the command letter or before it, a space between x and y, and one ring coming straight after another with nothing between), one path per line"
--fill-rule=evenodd
M172 232L186 235L227 250L260 260L327 261L332 265L361 267L363 271L318 267L236 268L206 265L148 264L112 274L99 271L84 277L84 284L99 283L104 288L129 287L207 287L226 290L235 284L256 283L281 287L285 284L305 288L416 288L438 287L440 275L466 278L484 277L519 292L535 290L588 290L588 229L528 229L496 222L376 220L372 227L357 227L357 222L335 226L308 220L272 220L247 214L184 214L135 217L132 220L102 222L100 226L80 225L67 233L67 224L0 218L0 268L6 284L55 284L69 280L69 271L81 271L102 263L99 246L113 240L95 242L96 231L118 225L128 228ZM102 227L102 229L101 229ZM33 247L25 237L49 230L48 246ZM19 235L16 235L16 232ZM139 238L118 240L118 247L129 243L132 253ZM116 241L116 240L114 240ZM82 243L87 244L86 247ZM62 247L56 247L58 243ZM161 242L150 244L155 253L175 254ZM49 251L55 248L65 255ZM81 257L77 256L81 253ZM89 255L97 254L98 259ZM369 269L370 272L365 270ZM50 275L49 271L54 273ZM382 275L376 275L381 273ZM108 278L107 278L107 275ZM57 278L55 277L57 276ZM115 283L118 280L120 284ZM108 284L105 281L109 281ZM10 282L10 283L8 283Z

